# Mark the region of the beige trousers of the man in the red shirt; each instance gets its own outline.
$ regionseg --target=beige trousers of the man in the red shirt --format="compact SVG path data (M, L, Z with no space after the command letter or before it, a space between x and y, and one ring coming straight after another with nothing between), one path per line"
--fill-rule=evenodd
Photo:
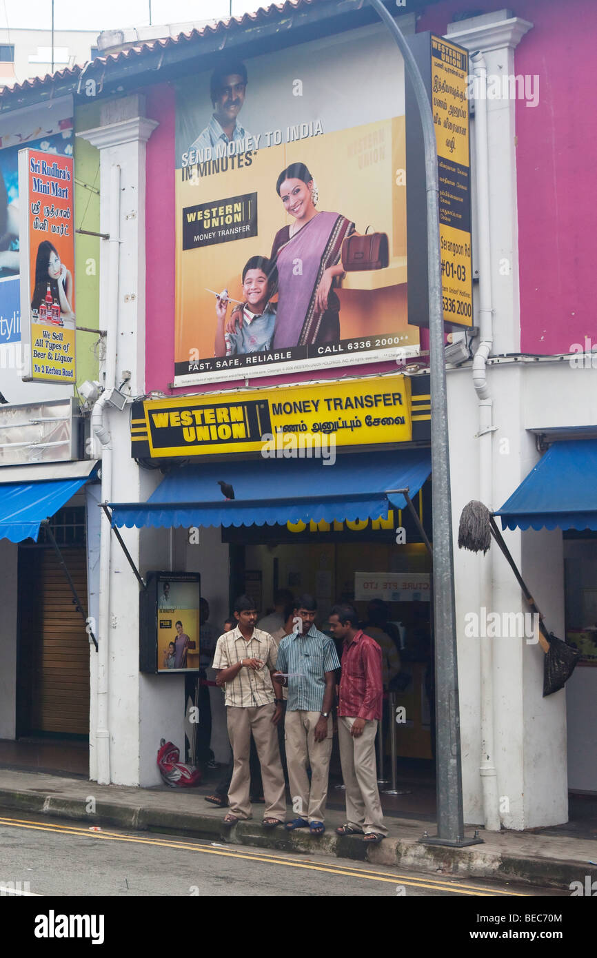
M375 741L378 722L367 721L362 735L351 735L355 719L338 718L338 743L342 778L346 787L346 820L354 829L365 834L378 832L386 835L383 813L379 802L378 769Z

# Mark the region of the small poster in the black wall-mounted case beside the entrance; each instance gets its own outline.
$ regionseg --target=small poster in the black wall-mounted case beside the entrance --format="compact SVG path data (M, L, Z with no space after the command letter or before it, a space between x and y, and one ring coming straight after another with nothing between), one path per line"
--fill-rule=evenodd
M196 582L157 583L157 672L199 668L199 590Z

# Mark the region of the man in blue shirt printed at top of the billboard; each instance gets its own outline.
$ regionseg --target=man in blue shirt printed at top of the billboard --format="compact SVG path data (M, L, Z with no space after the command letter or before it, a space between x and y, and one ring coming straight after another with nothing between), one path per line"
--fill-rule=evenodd
M227 63L214 70L210 80L210 96L214 113L189 149L190 162L197 162L197 153L207 147L216 148L246 140L251 134L238 121L244 103L247 74L244 63ZM252 139L252 137L251 137Z

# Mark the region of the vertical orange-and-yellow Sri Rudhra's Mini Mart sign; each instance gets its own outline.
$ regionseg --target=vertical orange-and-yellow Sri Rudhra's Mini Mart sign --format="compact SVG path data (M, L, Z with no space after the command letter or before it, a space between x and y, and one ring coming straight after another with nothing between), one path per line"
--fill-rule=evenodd
M36 382L75 382L75 222L72 157L19 153L21 316Z

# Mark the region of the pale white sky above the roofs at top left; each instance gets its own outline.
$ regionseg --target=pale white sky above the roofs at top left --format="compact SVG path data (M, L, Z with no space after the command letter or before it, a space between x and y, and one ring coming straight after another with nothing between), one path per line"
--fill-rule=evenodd
M230 0L151 0L151 22L181 23L189 20L223 19ZM232 14L253 12L269 6L268 0L232 0ZM16 30L49 30L52 0L0 0L0 27ZM54 0L56 30L118 30L149 25L149 0Z

